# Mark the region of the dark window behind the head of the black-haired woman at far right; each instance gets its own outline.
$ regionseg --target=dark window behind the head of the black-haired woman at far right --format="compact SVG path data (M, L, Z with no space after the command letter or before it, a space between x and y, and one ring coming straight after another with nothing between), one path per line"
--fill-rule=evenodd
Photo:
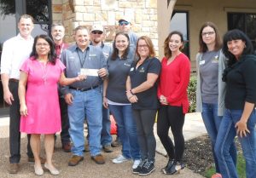
M228 29L239 29L245 32L256 50L256 14L228 13Z

